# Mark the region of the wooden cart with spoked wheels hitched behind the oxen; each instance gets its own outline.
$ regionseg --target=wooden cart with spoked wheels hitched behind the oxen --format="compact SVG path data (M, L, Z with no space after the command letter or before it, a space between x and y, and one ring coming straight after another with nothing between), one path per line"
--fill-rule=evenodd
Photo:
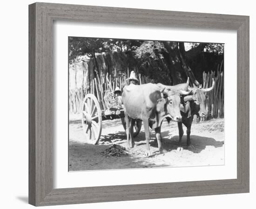
M90 144L97 144L101 137L102 121L121 118L124 130L126 123L124 120L124 110L120 114L115 111L101 110L98 99L93 94L87 94L82 104L82 126L86 135L86 141ZM141 121L137 120L134 126L134 137L141 131Z

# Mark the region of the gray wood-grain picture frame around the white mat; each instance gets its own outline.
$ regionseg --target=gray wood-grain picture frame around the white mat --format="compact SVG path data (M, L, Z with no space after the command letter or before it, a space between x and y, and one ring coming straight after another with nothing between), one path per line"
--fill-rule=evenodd
M237 179L53 189L53 21L237 31ZM249 17L115 7L29 5L29 203L36 206L249 192Z

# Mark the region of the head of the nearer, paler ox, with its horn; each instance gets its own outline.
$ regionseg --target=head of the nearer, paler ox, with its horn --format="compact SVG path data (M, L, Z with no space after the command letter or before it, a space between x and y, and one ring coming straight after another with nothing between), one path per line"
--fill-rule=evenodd
M174 121L181 121L181 96L188 95L190 92L191 91L162 89L162 98L158 100L156 110L158 112L166 112Z

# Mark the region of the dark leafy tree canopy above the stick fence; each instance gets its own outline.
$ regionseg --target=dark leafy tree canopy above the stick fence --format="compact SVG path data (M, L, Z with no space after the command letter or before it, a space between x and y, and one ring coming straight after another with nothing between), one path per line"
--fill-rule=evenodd
M109 74L130 69L167 85L187 77L195 85L202 83L202 72L216 71L224 53L223 44L176 41L69 37L68 46L69 64L92 59L95 77L104 65ZM102 55L105 58L98 59Z

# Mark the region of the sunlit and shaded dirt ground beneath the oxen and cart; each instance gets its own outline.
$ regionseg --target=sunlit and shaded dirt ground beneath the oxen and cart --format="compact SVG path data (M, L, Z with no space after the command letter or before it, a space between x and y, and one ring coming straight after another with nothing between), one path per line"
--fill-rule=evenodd
M102 122L99 144L86 144L80 115L69 117L69 171L130 169L150 167L186 167L224 164L224 119L212 119L193 123L191 127L191 144L186 145L186 127L183 125L182 151L178 151L179 132L177 123L166 121L162 124L161 134L166 153L157 151L154 144L155 131L150 130L150 149L153 156L146 157L145 132L135 137L135 147L128 151L128 156L103 155L104 150L113 144L126 147L126 133L120 119Z

